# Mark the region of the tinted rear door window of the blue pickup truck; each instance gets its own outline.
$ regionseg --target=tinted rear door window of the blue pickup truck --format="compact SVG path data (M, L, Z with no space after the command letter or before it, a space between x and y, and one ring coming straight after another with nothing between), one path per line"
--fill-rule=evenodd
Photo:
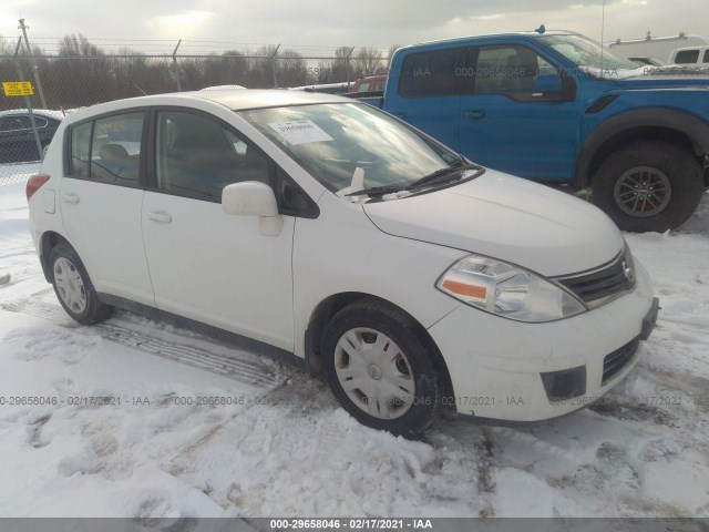
M465 55L465 48L407 55L401 66L399 94L404 98L456 94Z

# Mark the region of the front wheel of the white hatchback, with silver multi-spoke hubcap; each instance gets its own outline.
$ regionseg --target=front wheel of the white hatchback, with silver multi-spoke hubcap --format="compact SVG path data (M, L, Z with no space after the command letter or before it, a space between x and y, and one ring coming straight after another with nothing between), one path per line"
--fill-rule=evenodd
M443 379L403 311L353 303L328 324L321 352L332 392L362 424L415 438L438 417Z

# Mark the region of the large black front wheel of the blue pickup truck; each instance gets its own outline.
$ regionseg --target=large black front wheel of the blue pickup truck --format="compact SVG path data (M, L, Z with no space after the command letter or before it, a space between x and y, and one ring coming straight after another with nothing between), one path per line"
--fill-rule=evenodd
M623 231L662 233L681 225L703 192L690 153L662 141L630 144L610 154L592 182L594 203Z

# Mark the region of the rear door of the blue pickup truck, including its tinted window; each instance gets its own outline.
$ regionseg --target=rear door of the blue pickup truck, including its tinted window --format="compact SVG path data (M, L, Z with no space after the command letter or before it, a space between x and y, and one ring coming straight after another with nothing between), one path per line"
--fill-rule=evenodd
M386 110L460 152L460 85L466 48L428 49L391 69Z

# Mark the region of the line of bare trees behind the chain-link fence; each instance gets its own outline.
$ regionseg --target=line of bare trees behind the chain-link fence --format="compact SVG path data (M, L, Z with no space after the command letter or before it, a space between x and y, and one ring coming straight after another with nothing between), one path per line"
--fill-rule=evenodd
M0 78L18 80L14 50L17 41L0 37ZM389 50L391 54L398 47ZM21 55L27 53L21 52ZM296 50L260 47L254 52L229 50L204 58L177 57L177 71L169 55L146 57L123 48L106 53L81 33L64 35L55 55L35 48L31 55L41 74L44 95L52 109L71 109L120 98L171 92L177 89L179 75L183 90L209 85L239 84L251 89L299 86L316 83L353 81L362 74L386 70L388 58L373 48L360 48L356 53L340 47L332 59L309 60ZM29 80L29 60L21 59ZM39 102L34 102L39 105ZM18 99L0 98L0 109L21 105Z

